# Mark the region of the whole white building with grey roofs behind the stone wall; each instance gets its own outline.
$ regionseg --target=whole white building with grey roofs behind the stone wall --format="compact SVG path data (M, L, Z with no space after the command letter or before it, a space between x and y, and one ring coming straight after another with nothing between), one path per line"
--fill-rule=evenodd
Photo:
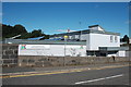
M51 40L55 38L61 40ZM120 47L119 33L106 32L99 25L88 26L85 30L55 34L48 40L36 41L37 45L26 42L23 42L24 49L20 45L19 55L128 57L126 51L129 49Z

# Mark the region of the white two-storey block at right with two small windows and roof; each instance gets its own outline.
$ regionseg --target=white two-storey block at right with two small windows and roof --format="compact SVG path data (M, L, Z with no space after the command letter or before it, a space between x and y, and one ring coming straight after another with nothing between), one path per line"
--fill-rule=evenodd
M120 48L120 34L106 32L99 25L88 26L86 34L87 55L117 55Z

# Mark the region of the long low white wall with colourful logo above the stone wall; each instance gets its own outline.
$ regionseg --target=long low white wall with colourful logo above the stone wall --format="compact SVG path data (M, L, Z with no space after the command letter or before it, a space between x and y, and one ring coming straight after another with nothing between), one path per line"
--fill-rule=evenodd
M25 47L26 49L22 49L22 45L19 45L19 55L64 57L64 45L26 45ZM80 57L86 55L86 46L66 46L66 55L76 57L79 54L81 54Z

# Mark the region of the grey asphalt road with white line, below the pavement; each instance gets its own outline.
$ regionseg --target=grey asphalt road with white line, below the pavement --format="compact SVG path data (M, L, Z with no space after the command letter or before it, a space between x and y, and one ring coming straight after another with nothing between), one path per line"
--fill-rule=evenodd
M3 78L3 85L129 85L129 67Z

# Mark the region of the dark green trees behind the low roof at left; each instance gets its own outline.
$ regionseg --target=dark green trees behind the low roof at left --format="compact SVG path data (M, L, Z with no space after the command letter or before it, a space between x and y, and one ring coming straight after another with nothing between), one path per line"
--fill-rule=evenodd
M40 37L45 36L45 38L41 39L48 39L49 35L44 34L41 29L34 29L31 33L27 33L26 28L23 25L16 24L14 26L2 24L2 39L14 37L16 35L21 35L20 37L16 37L15 39L27 39L27 38L34 38L34 37Z

